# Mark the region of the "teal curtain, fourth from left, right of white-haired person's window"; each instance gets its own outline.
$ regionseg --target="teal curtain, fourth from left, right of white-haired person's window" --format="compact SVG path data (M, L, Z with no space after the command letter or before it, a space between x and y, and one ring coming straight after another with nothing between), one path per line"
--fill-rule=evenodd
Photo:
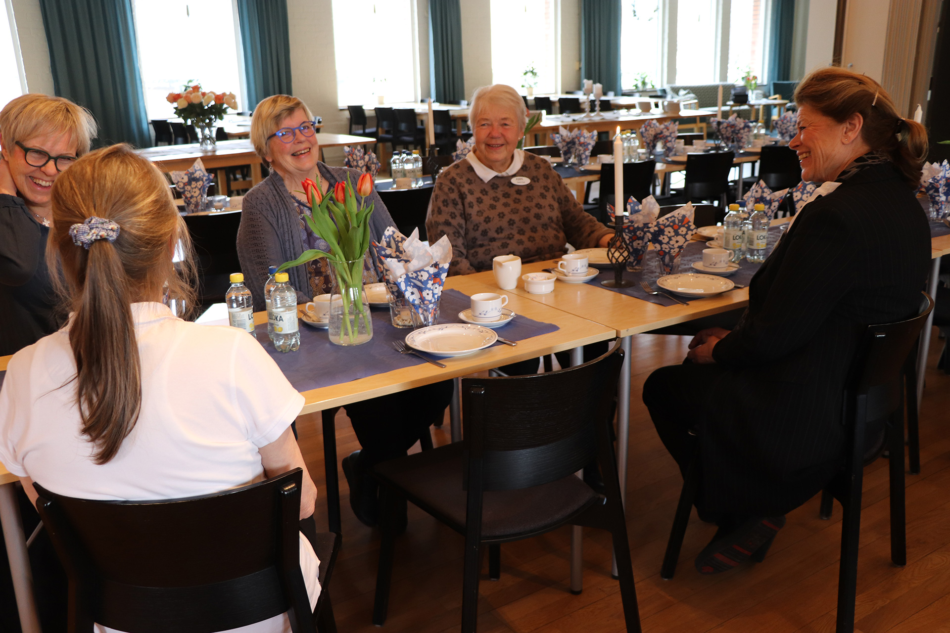
M620 94L620 0L580 0L580 75Z

